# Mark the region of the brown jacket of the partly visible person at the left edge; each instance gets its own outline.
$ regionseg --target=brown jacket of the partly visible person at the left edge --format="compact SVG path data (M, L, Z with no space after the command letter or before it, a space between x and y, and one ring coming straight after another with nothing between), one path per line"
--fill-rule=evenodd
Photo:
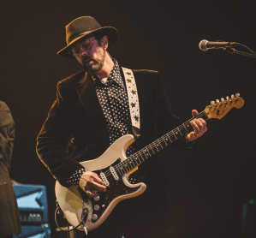
M20 214L9 178L15 142L15 122L6 104L0 101L0 237L21 233Z

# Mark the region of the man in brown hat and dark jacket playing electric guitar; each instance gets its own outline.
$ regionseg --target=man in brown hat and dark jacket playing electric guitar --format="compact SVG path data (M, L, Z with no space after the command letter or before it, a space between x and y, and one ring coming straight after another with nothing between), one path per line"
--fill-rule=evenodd
M57 181L63 187L78 186L92 198L106 192L106 181L86 170L80 162L100 157L126 134L133 134L137 139L126 151L130 157L179 125L158 72L126 73L110 57L108 48L117 38L116 28L100 27L89 16L68 24L67 46L58 55L76 58L84 70L58 82L57 98L38 136L39 158ZM136 90L130 90L129 83L133 82L125 80L129 72L134 74ZM192 113L198 115L197 110ZM198 146L198 138L207 130L206 122L199 118L190 124L193 131L172 146ZM68 150L65 150L67 143ZM89 237L175 237L170 232L168 189L158 159L153 157L128 178L130 183L145 182L146 191L118 203L104 223L88 232ZM76 235L84 237L85 233L77 230Z

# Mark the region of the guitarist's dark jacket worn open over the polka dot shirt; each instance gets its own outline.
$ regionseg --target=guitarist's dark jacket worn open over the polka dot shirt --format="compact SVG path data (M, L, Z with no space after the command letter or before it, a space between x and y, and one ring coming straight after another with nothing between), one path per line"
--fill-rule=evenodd
M179 120L170 109L163 80L156 71L133 70L140 102L140 139L147 146ZM123 72L121 69L122 78ZM70 140L71 139L71 140ZM68 150L65 151L69 141ZM107 124L98 102L92 77L74 74L57 84L57 98L38 136L39 158L63 186L80 169L80 161L98 158L110 145ZM158 170L158 160L140 165L143 176Z

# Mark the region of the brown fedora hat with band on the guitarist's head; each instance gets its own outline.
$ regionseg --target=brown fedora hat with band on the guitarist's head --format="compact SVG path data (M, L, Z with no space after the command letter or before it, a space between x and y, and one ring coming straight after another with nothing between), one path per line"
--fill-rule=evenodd
M74 58L69 54L70 48L77 40L85 37L90 33L98 33L102 36L107 35L109 39L109 47L116 42L118 32L115 27L101 27L91 16L81 16L74 19L66 26L67 46L57 54L61 57Z

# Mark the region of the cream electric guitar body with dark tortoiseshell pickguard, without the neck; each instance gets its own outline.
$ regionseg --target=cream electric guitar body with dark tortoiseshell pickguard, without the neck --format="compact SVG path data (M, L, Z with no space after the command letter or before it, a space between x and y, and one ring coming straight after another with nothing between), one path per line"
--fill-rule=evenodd
M87 171L98 170L99 173L107 170L108 172L106 172L106 174L112 176L109 170L110 166L112 164L119 164L127 159L126 150L133 142L134 136L126 134L116 140L99 158L84 161L80 164L83 165ZM135 168L135 170L137 169L138 167ZM57 201L68 223L73 226L79 225L83 207L86 207L88 209L88 216L85 223L86 229L88 231L96 229L110 215L110 212L118 202L123 199L136 197L143 193L146 189L145 183L131 184L128 181L128 175L135 170L130 170L127 174L118 179L112 176L112 181L109 181L110 185L107 186L107 191L99 193L98 200L90 198L86 201L82 199L77 186L63 187L57 181L55 188ZM84 230L83 225L80 225L78 229Z

